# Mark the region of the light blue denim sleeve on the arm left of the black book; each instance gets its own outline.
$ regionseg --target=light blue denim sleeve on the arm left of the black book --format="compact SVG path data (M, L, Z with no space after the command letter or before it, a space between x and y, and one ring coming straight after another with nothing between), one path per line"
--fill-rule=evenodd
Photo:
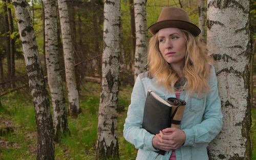
M152 139L155 135L142 128L145 100L145 89L138 76L133 88L131 104L127 111L123 135L125 140L132 143L137 149L157 151L158 149L152 145Z

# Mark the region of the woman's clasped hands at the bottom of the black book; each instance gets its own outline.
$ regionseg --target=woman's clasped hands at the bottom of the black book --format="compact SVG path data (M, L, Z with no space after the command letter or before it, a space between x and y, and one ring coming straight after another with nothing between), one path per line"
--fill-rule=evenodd
M160 131L158 144L160 146L168 146L170 149L177 149L186 141L186 134L178 128L165 128Z

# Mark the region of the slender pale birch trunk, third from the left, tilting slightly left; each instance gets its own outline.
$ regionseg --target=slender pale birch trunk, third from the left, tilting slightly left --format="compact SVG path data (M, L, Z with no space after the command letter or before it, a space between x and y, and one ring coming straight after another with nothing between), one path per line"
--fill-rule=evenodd
M76 85L75 60L72 49L72 38L70 34L70 21L67 1L58 0L58 9L63 43L63 54L65 60L66 82L68 87L69 111L70 115L76 118L81 112L81 109Z

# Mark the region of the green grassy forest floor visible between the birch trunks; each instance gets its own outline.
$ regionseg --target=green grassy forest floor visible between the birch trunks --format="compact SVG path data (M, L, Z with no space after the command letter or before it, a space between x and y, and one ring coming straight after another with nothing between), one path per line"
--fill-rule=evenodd
M252 160L256 160L256 76L251 108ZM67 91L66 91L67 92ZM137 150L123 138L123 124L130 104L132 87L121 86L119 92L118 143L120 159L135 159ZM84 82L81 87L82 113L77 119L68 117L71 136L62 136L55 144L55 159L95 159L97 141L97 112L100 84ZM66 94L67 95L67 94ZM36 159L36 123L29 92L20 91L1 97L0 159ZM67 104L68 106L68 104Z

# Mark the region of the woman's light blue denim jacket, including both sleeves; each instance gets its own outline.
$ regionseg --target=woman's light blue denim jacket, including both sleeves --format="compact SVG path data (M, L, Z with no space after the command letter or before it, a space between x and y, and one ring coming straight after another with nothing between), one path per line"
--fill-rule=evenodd
M152 139L155 135L142 128L147 90L153 90L165 101L169 97L176 97L175 94L169 93L164 86L157 84L156 80L156 78L151 79L143 75L137 77L125 119L124 138L139 149L136 158L139 160L168 160L172 153L170 151L165 155L158 155L157 152L154 152L156 149L152 146ZM211 67L211 77L209 77L208 83L210 92L207 96L198 98L197 94L188 96L186 90L181 92L180 99L187 103L180 125L180 129L186 134L186 141L176 149L177 160L208 159L206 144L211 142L222 128L221 102L214 66Z

